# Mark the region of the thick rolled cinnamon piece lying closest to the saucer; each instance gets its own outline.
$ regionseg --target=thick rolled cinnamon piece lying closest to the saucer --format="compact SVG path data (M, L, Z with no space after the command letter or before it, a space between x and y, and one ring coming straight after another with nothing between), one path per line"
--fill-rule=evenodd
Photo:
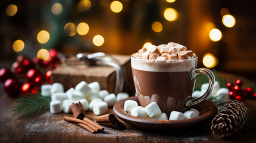
M96 122L100 125L110 126L116 129L125 129L126 126L121 123L115 114L109 113L96 117Z

